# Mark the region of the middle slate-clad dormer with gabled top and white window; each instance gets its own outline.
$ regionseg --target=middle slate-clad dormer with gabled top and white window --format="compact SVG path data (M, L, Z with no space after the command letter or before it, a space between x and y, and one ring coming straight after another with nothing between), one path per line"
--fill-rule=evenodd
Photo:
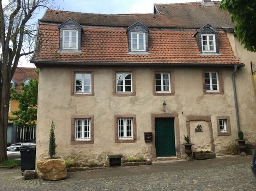
M127 28L129 54L149 54L149 28L140 22Z

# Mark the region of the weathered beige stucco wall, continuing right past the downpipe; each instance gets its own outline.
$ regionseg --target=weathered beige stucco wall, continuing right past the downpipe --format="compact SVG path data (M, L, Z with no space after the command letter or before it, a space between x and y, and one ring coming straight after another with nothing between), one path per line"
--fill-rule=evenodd
M239 52L240 53L240 52ZM241 58L243 60L243 58ZM245 60L246 56L245 56ZM250 61L250 60L249 60ZM245 62L246 63L246 62ZM254 104L253 76L248 64L236 74L241 130L245 138L255 142L252 116ZM74 96L72 76L74 71L93 72L94 95ZM133 96L114 96L115 71L133 71L135 92ZM222 74L224 94L207 95L203 91L203 71L219 71ZM175 87L174 95L154 95L155 71L171 71ZM72 158L81 163L97 160L105 163L109 154L124 157L143 155L156 159L154 142L155 117L173 117L176 158L185 157L183 135L190 135L194 151L212 150L216 155L237 152L237 122L232 87L232 68L150 68L150 67L56 67L41 68L38 92L37 160L48 156L51 121L55 123L57 155ZM163 102L166 102L166 106ZM166 113L163 113L163 110ZM71 144L72 116L93 116L93 144ZM115 115L136 116L136 141L115 143ZM218 116L230 118L231 135L218 135ZM203 132L195 133L200 124ZM153 133L153 141L145 142L144 132Z

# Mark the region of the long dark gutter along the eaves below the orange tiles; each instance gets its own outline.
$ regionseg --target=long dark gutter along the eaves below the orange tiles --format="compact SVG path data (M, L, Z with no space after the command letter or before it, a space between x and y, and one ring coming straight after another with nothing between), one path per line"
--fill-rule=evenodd
M30 60L34 64L47 65L82 65L82 66L173 66L173 67L226 67L237 68L244 67L244 63L226 63L226 64L215 64L215 63L145 63L145 62L73 62L73 61L38 61Z

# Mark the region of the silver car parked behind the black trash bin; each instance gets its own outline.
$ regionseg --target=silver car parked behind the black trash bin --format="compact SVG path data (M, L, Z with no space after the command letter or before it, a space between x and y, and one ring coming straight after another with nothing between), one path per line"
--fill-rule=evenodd
M20 147L22 146L35 146L35 143L15 143L7 147L8 160L20 160Z

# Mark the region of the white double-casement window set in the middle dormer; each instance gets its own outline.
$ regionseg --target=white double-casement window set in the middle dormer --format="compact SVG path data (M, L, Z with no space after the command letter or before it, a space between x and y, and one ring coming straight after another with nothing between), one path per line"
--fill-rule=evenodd
M131 32L132 51L146 51L146 40L144 32Z

